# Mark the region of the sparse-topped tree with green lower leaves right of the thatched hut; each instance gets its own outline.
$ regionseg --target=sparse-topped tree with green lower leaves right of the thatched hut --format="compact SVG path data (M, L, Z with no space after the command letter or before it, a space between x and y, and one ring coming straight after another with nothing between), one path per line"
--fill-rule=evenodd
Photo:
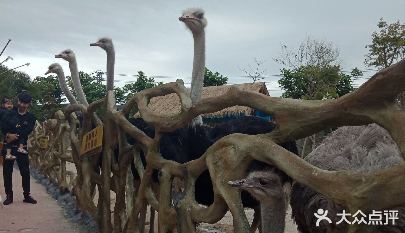
M278 83L286 90L282 97L322 100L339 98L354 90L351 76L341 73L339 53L332 42L311 36L301 42L298 50L281 45L281 53L273 60L290 67L280 70L282 77Z

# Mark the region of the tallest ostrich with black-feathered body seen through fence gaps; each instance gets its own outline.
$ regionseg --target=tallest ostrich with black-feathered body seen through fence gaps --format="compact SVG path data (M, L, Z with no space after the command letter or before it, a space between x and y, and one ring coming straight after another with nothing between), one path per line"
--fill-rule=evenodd
M204 72L205 72L205 33L204 28L207 25L207 21L204 17L204 12L198 8L188 9L183 11L183 15L179 17L179 20L185 23L187 28L193 34L194 38L194 63L192 74L192 86L190 88L190 95L192 97L192 103L196 103L201 98L201 92L203 87ZM149 137L154 137L154 130L150 128L142 119L130 119L130 122L146 133ZM160 152L163 158L168 160L174 160L179 163L189 162L191 160L200 158L207 149L220 138L230 135L232 133L244 133L244 134L261 134L269 133L274 130L275 124L257 118L254 116L239 117L235 120L223 123L215 128L204 126L201 117L194 118L188 126L175 130L173 132L167 132L162 135L160 141ZM130 144L134 144L135 140L132 137L127 137L127 141ZM286 149L297 154L295 142L286 142L281 144ZM141 160L143 165L146 165L144 154L141 153ZM254 161L249 168L251 170L263 169L268 167L265 163ZM276 169L277 170L277 169ZM285 174L279 171L282 177L282 183L287 181L291 182L291 179ZM132 167L132 173L135 179L139 179L139 175L136 169ZM152 179L158 182L158 172L154 171ZM173 201L176 204L181 197L179 190L178 193L173 193ZM209 171L204 171L200 177L198 177L195 185L196 201L203 205L211 205L214 201L213 185ZM242 192L243 205L245 207L257 207L258 202L250 197L247 192ZM253 231L255 231L254 229Z

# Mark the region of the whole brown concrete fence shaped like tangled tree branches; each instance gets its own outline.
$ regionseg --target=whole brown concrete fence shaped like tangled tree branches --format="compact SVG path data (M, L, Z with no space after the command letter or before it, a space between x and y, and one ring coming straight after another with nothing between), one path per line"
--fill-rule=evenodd
M52 183L57 180L63 192L66 191L65 187L69 187L63 180L63 175L66 180L64 162L74 162L77 176L72 182L72 194L76 197L77 209L85 210L94 217L99 232L143 232L144 226L139 225L139 214L145 203L158 211L159 232L172 232L176 228L178 232L196 232L195 222L218 222L228 208L233 216L234 232L248 232L249 223L243 211L240 192L230 188L227 182L243 178L242 171L254 159L274 165L349 212L361 210L364 214L371 214L373 209L387 210L405 205L405 163L373 173L325 171L310 165L277 143L302 139L337 126L377 123L390 133L404 155L405 113L396 97L404 91L405 60L379 71L357 90L335 100L274 98L233 87L225 94L192 105L190 95L179 79L135 94L124 109L117 111L114 92L109 91L105 98L91 103L87 108L81 104L67 107L64 117L68 123L62 123L63 116L58 112L55 120L43 123L41 129L38 124L34 136L30 138L30 154L35 157L32 165L38 167ZM147 103L151 98L173 92L181 99L180 113L161 114L148 108ZM137 105L143 120L155 129L154 139L128 121L134 105ZM276 129L262 135L226 136L212 145L202 157L185 164L160 156L158 146L162 133L183 128L200 114L234 105L249 106L275 115ZM101 106L104 109L104 122L94 114ZM74 111L83 113L83 127ZM104 124L102 152L81 160L83 135L91 130L92 123L95 126ZM71 156L67 156L65 150L68 141L64 141L67 140L64 135L67 133ZM137 143L129 145L125 133L134 137ZM49 137L50 149L40 152L36 143L44 135ZM119 148L118 160L114 156L116 147ZM141 162L141 150L146 156L146 169ZM141 177L136 197L132 182L127 180L128 177L132 180L132 159ZM155 189L151 186L153 169L161 170L159 193L154 193ZM205 169L209 169L215 194L215 201L209 207L201 207L194 197L194 184ZM183 198L175 207L171 202L174 177L182 177L185 183ZM93 202L95 188L99 192L98 205ZM110 190L117 195L114 224L111 223ZM348 231L368 232L368 227L366 224L353 224Z

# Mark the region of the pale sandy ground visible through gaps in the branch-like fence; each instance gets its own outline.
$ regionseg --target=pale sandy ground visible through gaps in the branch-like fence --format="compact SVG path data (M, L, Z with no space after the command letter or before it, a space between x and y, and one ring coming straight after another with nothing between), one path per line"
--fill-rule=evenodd
M73 171L76 173L76 167L71 162L66 162L66 170ZM115 193L111 191L111 211L114 210L115 200L116 200ZM96 193L96 196L94 197L94 203L96 205L97 205L97 201L98 201L98 193ZM246 214L249 222L252 222L253 214L254 214L253 209L245 209L245 214ZM155 219L154 228L155 228L155 232L158 232L157 214L155 214L155 218L156 219ZM113 219L112 214L111 214L111 219ZM145 232L149 232L149 221L150 221L150 208L148 207L147 216L146 216ZM197 232L198 233L232 233L233 232L232 214L228 211L225 214L224 218L222 218L219 222L217 222L215 224L201 223L201 225L197 227ZM258 233L259 231L256 231L256 232ZM286 213L286 227L284 229L284 232L285 233L298 233L296 226L294 225L294 222L291 220L291 207L290 206L288 206L288 210Z

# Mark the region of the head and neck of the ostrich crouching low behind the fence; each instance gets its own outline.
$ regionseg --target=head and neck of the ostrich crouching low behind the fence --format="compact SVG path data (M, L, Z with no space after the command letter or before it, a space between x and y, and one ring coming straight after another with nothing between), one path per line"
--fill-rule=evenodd
M279 175L273 169L252 171L245 179L230 181L228 184L249 192L260 201L262 232L284 232L287 193Z

